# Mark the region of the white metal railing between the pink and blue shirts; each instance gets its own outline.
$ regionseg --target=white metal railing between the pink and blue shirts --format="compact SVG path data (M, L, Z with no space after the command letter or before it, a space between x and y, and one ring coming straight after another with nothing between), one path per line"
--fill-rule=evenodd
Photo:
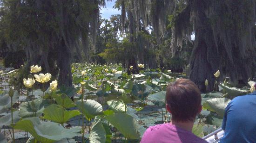
M202 137L202 139L206 140L208 143L218 143L220 139L223 137L224 131L222 128Z

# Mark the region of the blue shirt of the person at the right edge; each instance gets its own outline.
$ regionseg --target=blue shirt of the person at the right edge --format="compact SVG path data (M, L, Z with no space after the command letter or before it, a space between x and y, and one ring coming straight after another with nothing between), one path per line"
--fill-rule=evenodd
M256 92L232 99L222 122L219 143L256 143Z

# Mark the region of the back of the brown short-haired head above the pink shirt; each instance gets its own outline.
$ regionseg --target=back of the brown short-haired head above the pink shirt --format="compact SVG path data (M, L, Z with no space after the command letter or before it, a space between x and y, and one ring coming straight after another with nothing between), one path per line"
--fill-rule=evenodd
M201 100L200 90L189 79L178 79L166 89L167 110L175 122L194 122L202 111Z

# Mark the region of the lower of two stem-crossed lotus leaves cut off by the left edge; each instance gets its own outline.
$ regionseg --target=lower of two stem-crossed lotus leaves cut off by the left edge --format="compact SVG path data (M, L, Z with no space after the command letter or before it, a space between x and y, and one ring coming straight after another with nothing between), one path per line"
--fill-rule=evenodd
M13 123L16 123L20 120L19 111L13 112ZM0 129L3 125L9 126L12 124L12 113L8 113L7 115L0 118Z

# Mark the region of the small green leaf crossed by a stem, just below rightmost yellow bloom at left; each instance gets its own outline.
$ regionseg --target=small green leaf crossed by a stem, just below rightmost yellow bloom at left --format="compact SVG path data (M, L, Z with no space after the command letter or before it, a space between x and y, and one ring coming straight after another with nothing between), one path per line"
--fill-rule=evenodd
M61 94L53 94L53 98L55 99L58 105L64 106L65 108L72 108L75 106L74 102L66 94L63 94L62 97L63 96L65 96L64 99L61 98ZM63 100L64 105L62 105Z

